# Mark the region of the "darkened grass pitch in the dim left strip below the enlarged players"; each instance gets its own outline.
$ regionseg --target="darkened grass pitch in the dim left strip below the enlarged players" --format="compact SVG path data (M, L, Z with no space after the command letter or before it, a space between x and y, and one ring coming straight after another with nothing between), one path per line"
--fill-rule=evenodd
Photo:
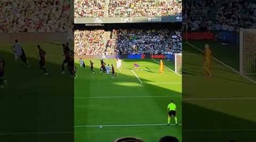
M37 44L47 52L49 77L39 69ZM11 45L0 45L8 81L0 89L0 141L72 141L73 78L60 73L61 44L22 42L30 68L15 62Z

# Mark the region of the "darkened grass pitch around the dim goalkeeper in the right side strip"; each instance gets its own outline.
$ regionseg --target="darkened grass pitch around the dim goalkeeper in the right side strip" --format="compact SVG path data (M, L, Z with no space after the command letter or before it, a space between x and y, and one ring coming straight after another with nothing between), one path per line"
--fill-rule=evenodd
M256 85L234 73L237 51L216 41L189 41L183 44L183 140L255 141ZM213 56L212 78L204 77L204 55L196 48L209 44ZM254 79L255 81L255 79Z

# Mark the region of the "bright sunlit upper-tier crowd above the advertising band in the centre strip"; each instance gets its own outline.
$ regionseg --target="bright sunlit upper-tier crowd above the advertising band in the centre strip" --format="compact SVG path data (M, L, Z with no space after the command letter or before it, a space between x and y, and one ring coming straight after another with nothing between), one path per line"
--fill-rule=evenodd
M181 15L181 0L75 0L75 18Z

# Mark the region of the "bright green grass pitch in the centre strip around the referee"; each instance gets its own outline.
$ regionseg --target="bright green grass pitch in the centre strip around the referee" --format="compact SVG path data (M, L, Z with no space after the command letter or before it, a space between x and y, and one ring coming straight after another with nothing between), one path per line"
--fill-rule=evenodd
M171 100L177 105L178 123L182 123L181 76L172 72L173 62L164 61L169 68L159 74L158 62L122 59L121 72L107 79L100 73L100 61L94 62L95 74L78 61L75 80L75 141L103 142L119 137L138 137L147 142L172 135L181 141L181 125L166 126L167 105ZM142 70L132 70L137 62ZM115 60L106 60L113 64ZM137 78L138 77L138 78ZM174 124L174 118L171 119ZM102 127L100 127L102 126Z

